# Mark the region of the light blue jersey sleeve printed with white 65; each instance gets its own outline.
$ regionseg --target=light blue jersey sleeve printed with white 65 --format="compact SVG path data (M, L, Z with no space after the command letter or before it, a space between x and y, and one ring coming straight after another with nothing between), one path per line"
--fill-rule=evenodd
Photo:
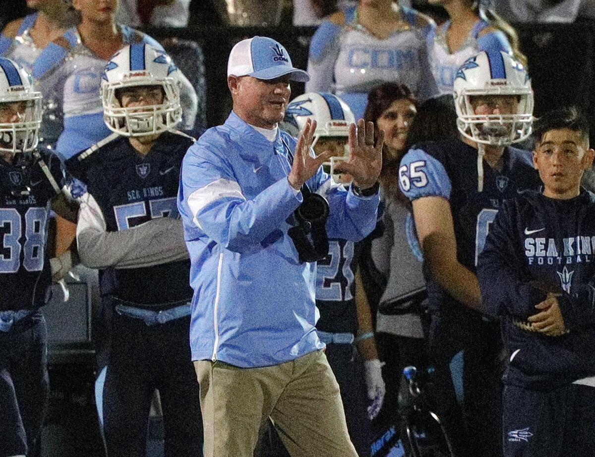
M450 199L452 184L444 165L423 149L410 149L399 167L399 187L413 201L437 196Z

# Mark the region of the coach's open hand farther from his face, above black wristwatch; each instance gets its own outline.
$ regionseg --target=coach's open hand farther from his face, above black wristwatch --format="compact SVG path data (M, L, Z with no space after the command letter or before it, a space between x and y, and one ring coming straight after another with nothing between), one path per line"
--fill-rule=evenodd
M374 123L363 119L349 126L349 160L334 167L335 173L347 173L353 177L353 184L360 189L374 186L382 169L382 147L384 132L378 132L374 144Z

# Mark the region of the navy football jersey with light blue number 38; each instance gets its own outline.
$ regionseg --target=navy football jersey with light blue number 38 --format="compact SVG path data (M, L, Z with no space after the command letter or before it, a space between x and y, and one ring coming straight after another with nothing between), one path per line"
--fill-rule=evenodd
M41 159L61 185L57 156ZM49 202L57 192L39 158L19 154L12 164L0 158L0 194L0 311L39 308L48 301L52 282L46 242Z

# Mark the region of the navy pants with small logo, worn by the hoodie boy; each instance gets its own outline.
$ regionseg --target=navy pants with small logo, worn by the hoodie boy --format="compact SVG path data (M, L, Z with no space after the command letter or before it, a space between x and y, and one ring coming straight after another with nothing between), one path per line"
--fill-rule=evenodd
M503 403L505 457L595 455L595 387L537 392L506 386Z

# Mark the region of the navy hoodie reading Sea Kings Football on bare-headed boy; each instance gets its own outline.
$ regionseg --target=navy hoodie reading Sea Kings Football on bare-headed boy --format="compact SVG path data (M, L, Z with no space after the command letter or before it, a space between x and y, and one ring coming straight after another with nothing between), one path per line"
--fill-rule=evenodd
M512 360L507 384L551 390L595 376L595 195L569 200L528 190L506 201L478 261L481 295L502 321ZM546 336L515 325L539 312L546 290L569 333Z

